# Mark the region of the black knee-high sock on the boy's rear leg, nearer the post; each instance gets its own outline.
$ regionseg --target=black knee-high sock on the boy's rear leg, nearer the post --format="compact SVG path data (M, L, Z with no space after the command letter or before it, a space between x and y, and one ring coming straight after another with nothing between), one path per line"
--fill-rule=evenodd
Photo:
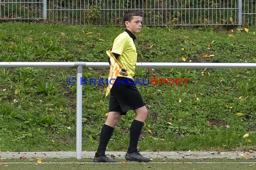
M105 155L106 146L113 134L114 127L110 127L106 124L102 126L102 131L100 134L100 143L97 149L96 156L103 156Z

